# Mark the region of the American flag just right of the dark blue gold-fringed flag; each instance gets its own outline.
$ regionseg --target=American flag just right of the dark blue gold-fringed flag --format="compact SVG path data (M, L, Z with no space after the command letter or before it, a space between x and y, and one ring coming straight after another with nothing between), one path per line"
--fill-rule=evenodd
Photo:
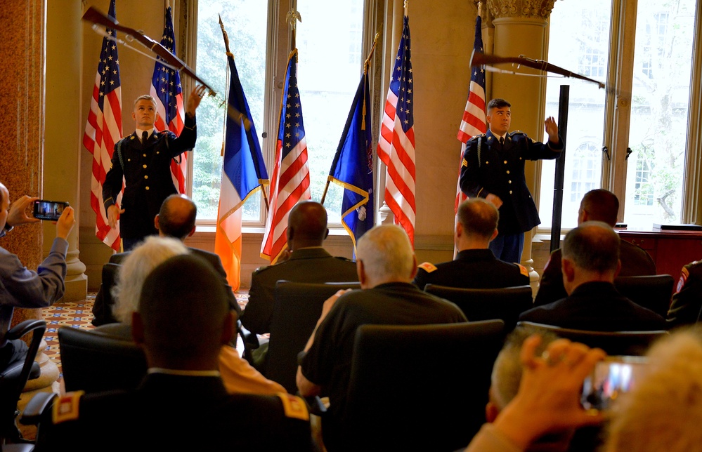
M385 203L410 242L415 242L415 121L412 118L410 25L404 18L402 39L390 76L378 157L386 165Z

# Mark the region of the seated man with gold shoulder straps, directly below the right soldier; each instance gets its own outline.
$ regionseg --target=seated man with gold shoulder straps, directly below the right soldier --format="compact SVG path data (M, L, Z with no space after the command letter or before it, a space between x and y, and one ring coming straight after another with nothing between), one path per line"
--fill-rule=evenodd
M455 260L433 265L424 262L417 270L415 285L462 288L502 288L529 284L529 272L519 264L502 262L488 248L498 236L500 213L482 198L471 198L458 207Z

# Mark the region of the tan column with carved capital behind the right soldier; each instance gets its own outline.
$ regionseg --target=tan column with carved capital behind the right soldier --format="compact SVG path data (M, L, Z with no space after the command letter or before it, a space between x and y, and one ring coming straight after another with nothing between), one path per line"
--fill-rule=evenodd
M555 0L488 0L486 2L494 26L493 53L500 56L525 55L536 60L546 59L546 27ZM514 70L514 69L513 69ZM542 74L536 69L519 67L516 72ZM540 77L520 77L512 74L493 74L491 98L505 98L512 104L512 130L521 130L536 140L544 139L543 99L546 81ZM547 138L546 138L547 139ZM538 192L536 164L526 164L526 185L531 193ZM531 239L533 230L524 237L522 265L528 267L532 286L539 275L533 270Z

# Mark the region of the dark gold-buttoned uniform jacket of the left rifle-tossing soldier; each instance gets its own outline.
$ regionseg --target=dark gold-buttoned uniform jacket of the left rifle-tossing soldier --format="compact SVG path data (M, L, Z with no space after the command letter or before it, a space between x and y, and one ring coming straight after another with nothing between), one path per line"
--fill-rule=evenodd
M170 194L176 193L171 178L171 159L195 147L197 138L195 117L186 114L185 127L176 138L172 132L152 133L145 143L136 132L122 138L115 145L110 171L103 182L105 211L116 204L117 194L124 194L124 213L119 217L119 234L126 239L141 239L156 235L154 217ZM120 160L118 149L121 150Z

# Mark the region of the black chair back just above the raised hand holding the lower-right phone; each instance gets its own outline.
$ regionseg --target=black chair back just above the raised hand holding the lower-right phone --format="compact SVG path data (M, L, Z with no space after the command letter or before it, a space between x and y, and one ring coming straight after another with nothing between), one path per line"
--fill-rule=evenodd
M668 334L668 331L586 331L561 328L560 326L537 324L531 321L520 321L517 328L530 328L550 331L559 338L579 342L588 347L598 347L611 356L632 355L640 356L646 353L649 345L656 339Z

